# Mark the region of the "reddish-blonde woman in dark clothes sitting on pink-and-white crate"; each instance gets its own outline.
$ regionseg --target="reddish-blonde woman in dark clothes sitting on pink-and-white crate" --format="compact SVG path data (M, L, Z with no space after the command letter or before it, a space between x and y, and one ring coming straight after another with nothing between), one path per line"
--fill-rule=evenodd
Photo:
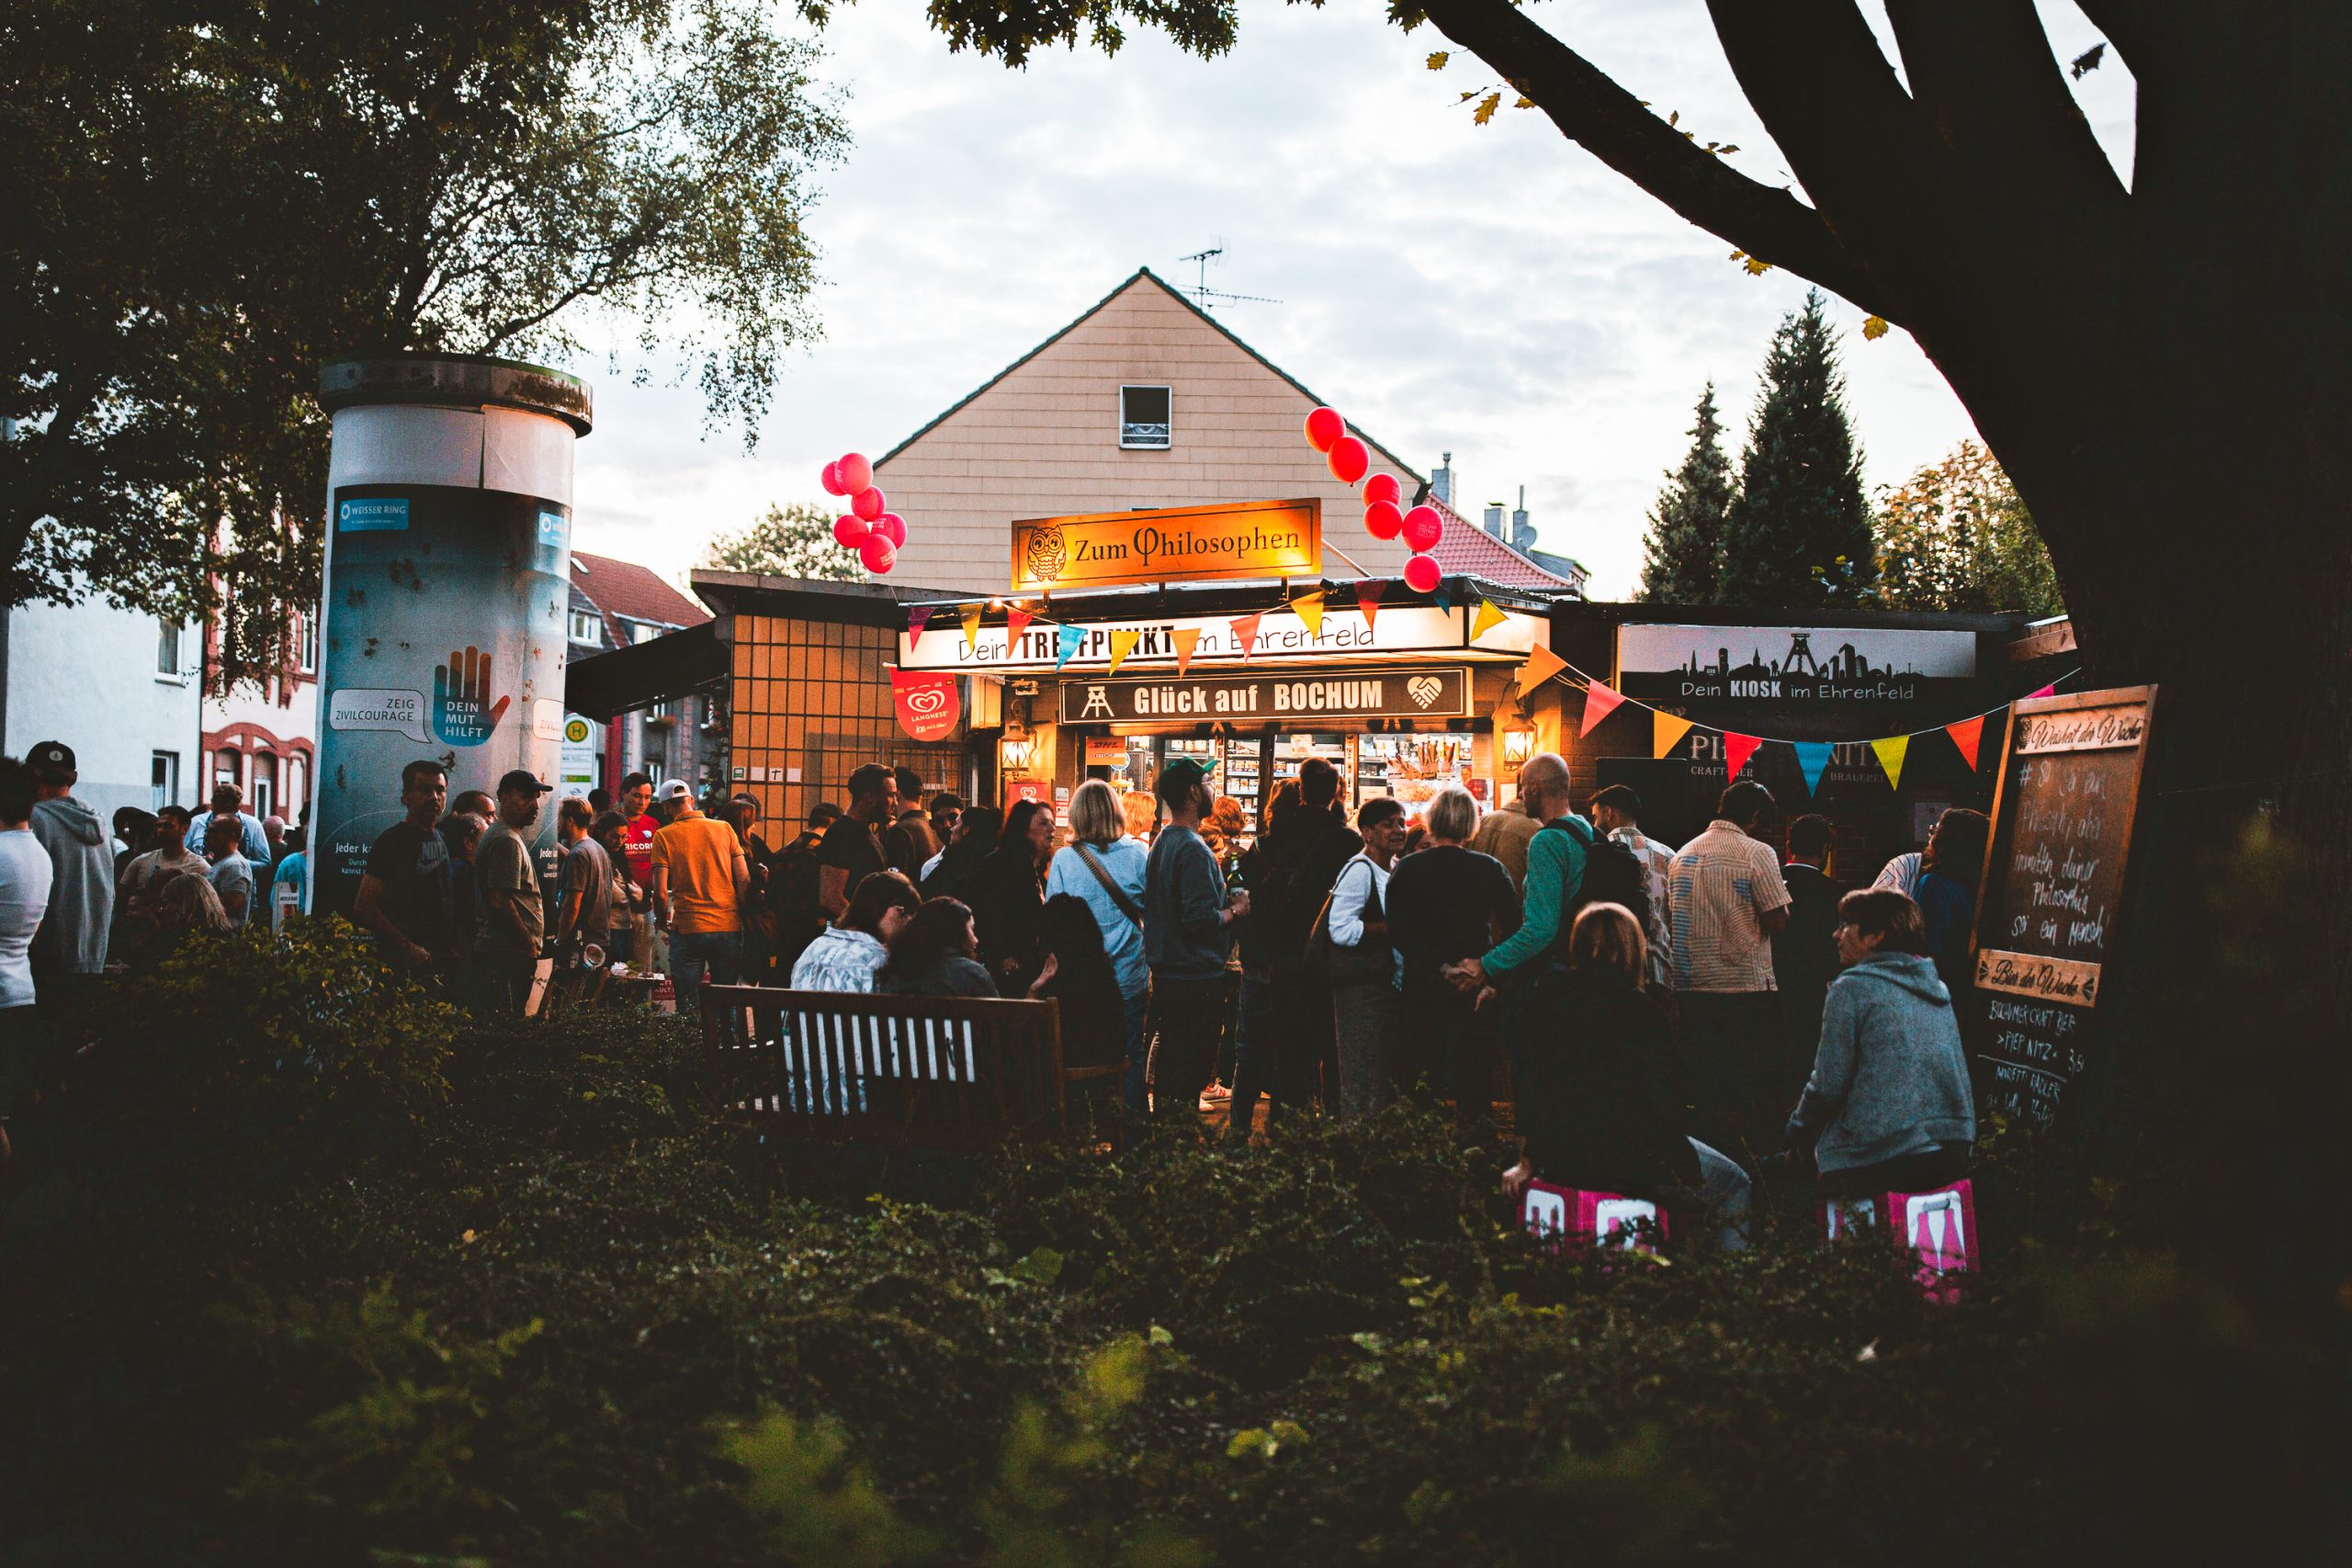
M1531 1175L1581 1192L1693 1199L1722 1220L1722 1244L1745 1246L1748 1173L1684 1133L1665 1009L1642 976L1649 940L1621 903L1595 903L1569 929L1569 971L1529 1013L1538 1037L1519 1074L1526 1152L1503 1173L1517 1197ZM1538 1023L1541 1020L1541 1023Z

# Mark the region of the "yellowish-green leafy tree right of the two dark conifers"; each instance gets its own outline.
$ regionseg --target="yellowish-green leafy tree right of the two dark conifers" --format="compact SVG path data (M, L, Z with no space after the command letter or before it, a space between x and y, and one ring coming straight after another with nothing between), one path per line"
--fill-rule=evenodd
M1879 501L1877 588L1886 609L2065 611L2032 515L1976 442Z

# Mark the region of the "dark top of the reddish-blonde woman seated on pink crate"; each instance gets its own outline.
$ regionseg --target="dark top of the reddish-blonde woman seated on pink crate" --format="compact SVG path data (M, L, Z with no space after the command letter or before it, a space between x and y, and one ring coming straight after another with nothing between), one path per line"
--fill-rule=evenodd
M1571 969L1536 990L1519 1074L1519 1135L1548 1182L1646 1197L1696 1187L1665 1009L1611 973Z

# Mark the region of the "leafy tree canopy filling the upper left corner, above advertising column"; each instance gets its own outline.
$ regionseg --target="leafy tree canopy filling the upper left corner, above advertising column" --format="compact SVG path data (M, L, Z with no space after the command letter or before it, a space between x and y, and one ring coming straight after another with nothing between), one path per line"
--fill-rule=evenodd
M844 132L746 0L0 14L0 602L282 625L318 592L320 362L569 357L619 320L767 407ZM230 642L228 677L273 663Z

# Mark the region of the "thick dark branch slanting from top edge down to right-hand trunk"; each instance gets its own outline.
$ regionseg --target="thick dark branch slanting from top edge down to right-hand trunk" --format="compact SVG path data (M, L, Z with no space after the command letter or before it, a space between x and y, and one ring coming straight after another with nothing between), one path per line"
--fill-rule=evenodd
M1816 209L1691 146L1510 0L1428 0L1423 9L1437 31L1534 99L1569 141L1698 228L1900 322L1884 289L1856 266Z

